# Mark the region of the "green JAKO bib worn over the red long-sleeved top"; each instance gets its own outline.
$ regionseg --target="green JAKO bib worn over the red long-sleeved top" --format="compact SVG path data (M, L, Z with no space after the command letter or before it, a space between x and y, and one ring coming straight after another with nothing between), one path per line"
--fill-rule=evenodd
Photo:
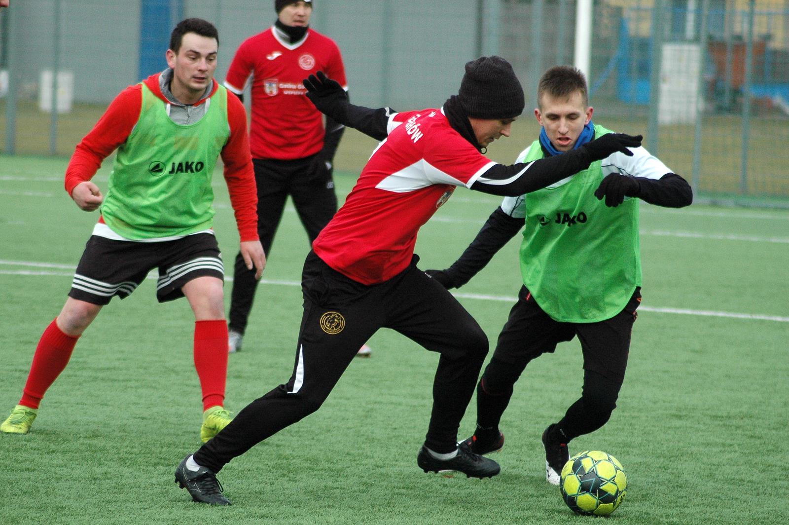
M104 222L125 238L187 235L213 224L211 176L230 137L227 90L219 87L203 118L181 126L166 103L142 84L140 118L118 154L101 207Z

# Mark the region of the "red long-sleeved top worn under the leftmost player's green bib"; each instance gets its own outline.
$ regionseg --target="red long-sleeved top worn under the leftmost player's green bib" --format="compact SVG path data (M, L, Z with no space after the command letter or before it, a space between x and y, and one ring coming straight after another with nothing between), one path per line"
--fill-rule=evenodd
M145 79L145 85L165 103L168 103L159 88L159 73ZM197 104L205 103L211 94ZM89 181L99 170L101 163L129 138L140 118L142 109L142 86L135 84L125 88L107 107L99 122L77 144L69 167L65 171L65 190L71 195L74 186ZM256 241L257 235L257 191L252 157L249 155L249 137L246 129L246 111L234 96L227 97L227 121L230 138L222 148L222 163L230 204L235 213L241 241ZM101 220L101 219L99 219Z

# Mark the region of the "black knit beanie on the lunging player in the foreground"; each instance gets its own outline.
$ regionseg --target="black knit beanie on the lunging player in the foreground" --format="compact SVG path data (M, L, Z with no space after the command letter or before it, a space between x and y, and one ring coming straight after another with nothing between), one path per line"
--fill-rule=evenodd
M525 107L523 88L510 62L495 55L466 63L458 99L474 118L514 118Z

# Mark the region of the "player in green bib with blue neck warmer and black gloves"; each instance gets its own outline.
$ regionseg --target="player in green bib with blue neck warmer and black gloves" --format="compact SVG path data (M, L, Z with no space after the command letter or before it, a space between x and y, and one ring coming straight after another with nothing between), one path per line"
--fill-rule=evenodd
M593 124L578 69L548 69L537 101L540 138L518 162L563 155L611 133ZM545 476L553 485L569 459L567 443L599 429L616 407L641 302L639 199L671 208L693 199L685 179L660 159L641 147L630 152L615 152L552 186L505 198L458 261L446 270L427 271L447 288L461 287L523 231L523 286L477 384L477 429L464 442L477 454L502 448L499 421L525 366L578 336L583 393L542 435Z

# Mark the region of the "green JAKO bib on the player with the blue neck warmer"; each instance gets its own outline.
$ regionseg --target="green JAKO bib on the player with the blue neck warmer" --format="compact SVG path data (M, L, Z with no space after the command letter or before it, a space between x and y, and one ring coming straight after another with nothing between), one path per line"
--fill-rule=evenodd
M595 137L605 133L595 126ZM534 141L518 162L543 156ZM523 283L555 321L610 319L641 286L638 199L608 208L594 196L603 178L598 160L561 186L525 195Z

